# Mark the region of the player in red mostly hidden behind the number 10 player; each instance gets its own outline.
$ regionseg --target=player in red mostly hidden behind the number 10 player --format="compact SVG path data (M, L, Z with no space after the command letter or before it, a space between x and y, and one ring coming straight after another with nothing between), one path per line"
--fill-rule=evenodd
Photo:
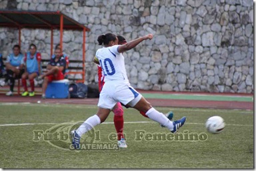
M127 41L125 40L124 37L122 36L117 36L118 39L118 45L124 45L125 43L127 43ZM99 65L99 61L97 61L97 58L95 57L93 59L93 62L96 63L98 66L98 79L99 79L99 92L101 92L103 85L104 85L104 75L103 75L103 71L101 69L101 66ZM129 108L129 106L125 106L127 108ZM117 144L120 148L127 148L127 144L125 142L125 137L123 136L123 108L121 105L121 102L117 102L117 104L115 104L115 106L112 109L113 113L114 113L114 124L115 124L115 130L117 131ZM146 118L147 115L144 112L141 112L141 114L143 116L145 116ZM166 114L167 118L169 118L170 120L173 118L173 113L169 112Z

